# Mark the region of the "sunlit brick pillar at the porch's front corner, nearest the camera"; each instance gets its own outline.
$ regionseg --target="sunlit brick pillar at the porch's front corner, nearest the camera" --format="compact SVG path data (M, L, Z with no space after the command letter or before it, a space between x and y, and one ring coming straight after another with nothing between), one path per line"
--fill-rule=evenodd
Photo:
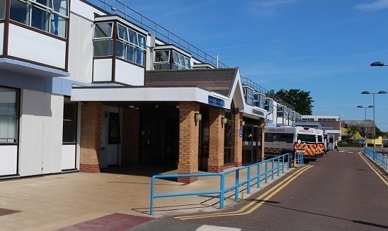
M198 172L199 125L194 121L194 113L199 112L199 103L179 104L179 162L178 174ZM197 177L178 178L178 182L192 183Z

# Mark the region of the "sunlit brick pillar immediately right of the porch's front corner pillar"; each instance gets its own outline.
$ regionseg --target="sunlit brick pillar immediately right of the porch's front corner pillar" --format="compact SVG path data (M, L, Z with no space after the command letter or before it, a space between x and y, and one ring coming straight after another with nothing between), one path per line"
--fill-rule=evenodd
M209 159L208 172L224 171L224 126L221 123L224 109L209 108Z

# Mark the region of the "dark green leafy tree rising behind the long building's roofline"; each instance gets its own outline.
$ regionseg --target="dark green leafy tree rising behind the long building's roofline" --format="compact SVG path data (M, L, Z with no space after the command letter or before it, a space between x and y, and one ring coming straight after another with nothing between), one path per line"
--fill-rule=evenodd
M273 90L270 92L293 106L297 113L301 115L312 114L312 107L314 107L312 103L314 100L310 97L310 92L304 92L300 89L280 89L276 93Z

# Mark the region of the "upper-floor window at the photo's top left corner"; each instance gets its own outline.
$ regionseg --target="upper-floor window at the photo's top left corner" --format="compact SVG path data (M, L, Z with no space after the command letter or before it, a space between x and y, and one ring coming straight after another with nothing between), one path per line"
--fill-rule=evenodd
M10 0L10 20L66 38L69 1Z

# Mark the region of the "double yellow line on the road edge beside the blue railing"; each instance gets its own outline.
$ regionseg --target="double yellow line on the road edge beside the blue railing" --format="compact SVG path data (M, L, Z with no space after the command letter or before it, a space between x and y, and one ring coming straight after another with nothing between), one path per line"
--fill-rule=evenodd
M194 215L194 216L175 216L175 218L180 220L192 220L192 219L200 219L200 218L211 218L211 217L218 217L218 216L241 216L252 213L252 211L258 209L263 205L265 202L271 199L273 195L278 193L282 188L285 188L289 183L291 183L296 177L303 174L303 172L306 172L308 169L310 169L312 165L306 165L304 167L301 167L301 169L298 169L296 172L288 176L284 181L280 181L276 186L268 190L266 193L263 193L256 199L253 199L252 202L245 205L245 207L237 210L237 211L231 211L231 212L225 212L225 213L215 213L215 214L202 214L202 215Z

